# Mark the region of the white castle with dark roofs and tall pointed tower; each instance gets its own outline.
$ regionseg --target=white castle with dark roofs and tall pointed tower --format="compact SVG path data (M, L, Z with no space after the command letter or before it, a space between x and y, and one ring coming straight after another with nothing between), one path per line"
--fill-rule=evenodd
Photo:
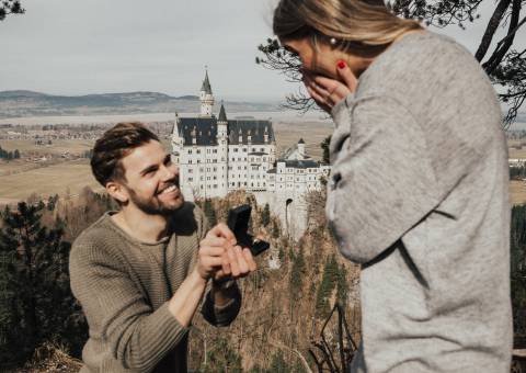
M208 71L199 98L199 115L180 117L175 113L171 137L185 197L224 197L245 190L258 203L268 203L297 237L305 229L305 194L322 188L321 179L328 178L330 166L312 160L302 139L276 159L270 121L228 120L222 103L216 117Z

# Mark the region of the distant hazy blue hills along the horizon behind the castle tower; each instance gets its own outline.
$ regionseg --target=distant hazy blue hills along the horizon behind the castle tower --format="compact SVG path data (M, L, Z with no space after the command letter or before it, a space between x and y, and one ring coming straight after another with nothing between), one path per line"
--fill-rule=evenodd
M216 105L218 102L216 102ZM227 112L275 111L277 103L226 101ZM0 118L46 115L100 115L167 112L196 113L197 95L172 97L159 92L55 95L34 91L0 91ZM217 110L219 111L219 108Z

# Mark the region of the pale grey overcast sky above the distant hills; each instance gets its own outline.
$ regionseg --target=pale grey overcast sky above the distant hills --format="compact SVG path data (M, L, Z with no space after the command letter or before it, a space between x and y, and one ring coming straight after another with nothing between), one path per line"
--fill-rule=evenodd
M0 91L198 94L207 65L216 99L282 100L294 86L254 63L274 3L22 0L26 13L0 22ZM474 50L492 7L484 0L468 31L445 32Z

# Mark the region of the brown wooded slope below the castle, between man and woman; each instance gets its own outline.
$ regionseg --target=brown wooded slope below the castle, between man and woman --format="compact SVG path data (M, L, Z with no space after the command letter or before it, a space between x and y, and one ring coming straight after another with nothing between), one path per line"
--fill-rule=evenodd
M321 192L310 202L324 204L323 195ZM255 199L242 192L214 201L218 219L226 218L228 208L247 201L253 205L253 231L265 236L272 249L258 258L256 273L240 281L243 306L230 327L216 329L196 318L191 332L191 368L205 372L219 372L221 366L229 372L266 372L279 363L286 364L286 371L304 372L308 363L315 369L309 349L317 351L313 342L319 340L336 301L345 309L353 338L359 339L359 270L339 256L324 224L322 205L309 208L308 229L299 240L291 240L281 236L275 217L263 226L263 207L254 207ZM270 265L275 260L279 268ZM325 338L334 349L336 329L332 318Z

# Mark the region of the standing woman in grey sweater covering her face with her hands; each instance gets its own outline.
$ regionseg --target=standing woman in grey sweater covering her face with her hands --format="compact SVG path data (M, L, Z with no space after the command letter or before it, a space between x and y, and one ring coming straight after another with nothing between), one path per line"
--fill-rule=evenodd
M335 124L327 215L363 264L352 371L510 372L507 151L484 71L380 0L282 0L274 32Z

